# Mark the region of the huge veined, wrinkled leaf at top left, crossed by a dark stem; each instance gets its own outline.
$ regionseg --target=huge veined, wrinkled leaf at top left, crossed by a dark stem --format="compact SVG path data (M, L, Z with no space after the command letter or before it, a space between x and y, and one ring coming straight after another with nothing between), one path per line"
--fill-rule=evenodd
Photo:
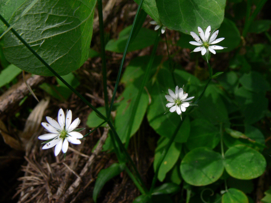
M96 0L39 0L21 17L31 3L26 0L9 23L16 22L18 34L60 75L82 66L88 58ZM36 75L53 75L12 32L3 39L9 62Z

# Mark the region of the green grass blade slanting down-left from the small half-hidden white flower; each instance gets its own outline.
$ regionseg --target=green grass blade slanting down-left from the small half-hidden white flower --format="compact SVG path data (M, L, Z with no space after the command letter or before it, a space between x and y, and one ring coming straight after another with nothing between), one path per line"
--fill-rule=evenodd
M131 134L134 119L135 119L135 113L136 113L136 110L138 108L138 103L139 103L139 100L141 98L141 94L142 94L142 92L144 90L144 87L145 87L145 85L146 85L146 83L147 83L147 81L149 79L149 75L150 75L150 71L151 71L151 68L152 68L152 65L153 65L153 61L154 61L155 53L156 53L156 50L157 50L159 38L160 38L160 30L157 32L157 35L156 35L156 38L155 38L155 41L154 41L153 50L151 52L150 61L149 61L148 65L147 65L147 69L146 69L146 71L144 73L142 82L140 84L137 97L135 98L135 100L133 102L132 112L131 112L131 116L130 116L129 122L128 122L129 125L127 126L128 130L127 130L127 137L126 137L126 140L125 140L126 141L125 142L125 148L126 149L128 147L128 144L129 144L130 134Z

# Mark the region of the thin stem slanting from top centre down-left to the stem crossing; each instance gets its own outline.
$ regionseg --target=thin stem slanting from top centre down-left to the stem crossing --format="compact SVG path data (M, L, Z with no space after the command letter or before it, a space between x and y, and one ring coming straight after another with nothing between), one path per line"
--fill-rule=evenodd
M132 29L130 31L130 34L129 34L129 37L128 37L128 40L127 40L127 43L126 43L126 46L125 46L125 49L124 49L124 53L123 53L123 56L122 56L122 59L121 59L120 69L118 71L118 76L117 76L115 88L114 88L114 91L113 91L112 99L111 99L111 102L110 102L109 111L107 113L107 117L109 117L110 114L111 114L111 110L112 110L114 100L115 100L115 96L116 96L116 92L117 92L118 83L120 82L120 75L121 75L122 67L123 67L124 60L125 60L125 57L126 57L126 54L127 54L128 45L130 44L131 36L133 34L134 27L135 27L135 21L137 20L137 16L138 16L138 13L139 13L139 11L141 9L142 3L143 3L143 0L140 0L140 3L139 3L138 8L137 8L137 13L135 14Z

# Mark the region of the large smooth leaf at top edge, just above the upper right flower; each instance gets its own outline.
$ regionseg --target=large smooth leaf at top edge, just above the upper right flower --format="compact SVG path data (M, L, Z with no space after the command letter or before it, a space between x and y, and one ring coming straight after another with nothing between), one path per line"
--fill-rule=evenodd
M197 33L198 26L217 29L224 18L225 4L225 0L156 0L162 24L184 33Z

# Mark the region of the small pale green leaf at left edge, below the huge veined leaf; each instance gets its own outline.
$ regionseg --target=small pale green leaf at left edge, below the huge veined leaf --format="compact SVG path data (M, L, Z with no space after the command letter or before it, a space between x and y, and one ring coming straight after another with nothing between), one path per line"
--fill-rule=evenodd
M7 68L2 70L0 73L0 87L3 87L5 84L10 83L21 72L21 69L14 66L13 64L9 64Z

